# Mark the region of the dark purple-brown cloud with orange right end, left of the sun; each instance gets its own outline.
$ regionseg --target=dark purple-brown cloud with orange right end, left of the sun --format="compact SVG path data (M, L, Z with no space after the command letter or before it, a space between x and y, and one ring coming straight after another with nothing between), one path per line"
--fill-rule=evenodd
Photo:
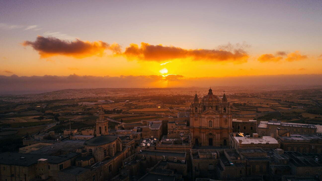
M75 58L84 58L89 56L102 56L106 49L114 52L118 51L116 45L109 45L102 41L89 42L76 39L75 41L60 40L54 37L38 36L36 41L25 41L23 46L32 46L38 51L41 58L47 58L55 55L71 56Z

